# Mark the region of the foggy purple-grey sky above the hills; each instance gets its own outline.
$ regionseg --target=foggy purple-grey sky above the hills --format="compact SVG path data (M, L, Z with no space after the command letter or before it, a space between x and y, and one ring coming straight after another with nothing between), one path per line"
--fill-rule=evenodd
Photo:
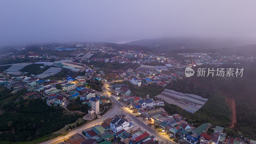
M255 0L0 2L0 46L175 36L256 37Z

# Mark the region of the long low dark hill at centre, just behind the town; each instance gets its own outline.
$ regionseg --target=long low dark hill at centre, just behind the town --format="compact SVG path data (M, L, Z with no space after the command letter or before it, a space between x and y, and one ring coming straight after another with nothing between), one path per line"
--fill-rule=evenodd
M128 45L128 44L115 44L115 43L107 43L107 42L94 42L93 44L97 46L106 46L106 47L112 47L117 50L133 50L133 51L152 51L147 46L140 46L140 45Z

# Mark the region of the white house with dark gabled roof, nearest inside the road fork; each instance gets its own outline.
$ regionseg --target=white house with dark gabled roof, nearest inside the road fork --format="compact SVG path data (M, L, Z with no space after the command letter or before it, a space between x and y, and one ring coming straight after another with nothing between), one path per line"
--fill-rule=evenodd
M124 118L120 118L120 117L116 117L115 119L113 119L111 122L110 122L110 129L113 131L113 132L119 132L121 130L125 130L127 131L128 129L132 128L133 127L133 124L128 122L126 119Z

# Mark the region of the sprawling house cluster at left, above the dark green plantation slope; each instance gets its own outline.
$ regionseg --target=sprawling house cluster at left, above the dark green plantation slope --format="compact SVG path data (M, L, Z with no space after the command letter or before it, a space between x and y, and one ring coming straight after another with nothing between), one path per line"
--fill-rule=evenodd
M28 93L22 96L23 99L42 96L46 98L49 106L52 104L65 105L69 100L74 100L77 97L80 97L80 100L83 101L82 103L88 106L92 104L91 98L95 97L100 103L109 102L104 96L101 97L100 94L88 88L88 83L85 82L84 76L77 76L75 79L67 76L63 80L39 80L39 78L34 77L18 76L8 80L2 78L0 79L0 85L12 90L12 93L26 89ZM57 89L57 85L60 85L61 89Z

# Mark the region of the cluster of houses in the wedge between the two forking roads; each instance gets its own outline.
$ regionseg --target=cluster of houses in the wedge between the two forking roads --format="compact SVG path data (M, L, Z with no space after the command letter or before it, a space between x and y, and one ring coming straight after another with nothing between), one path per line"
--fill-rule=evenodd
M111 141L120 138L125 144L154 144L156 137L140 129L128 132L133 128L133 124L122 116L108 118L101 125L95 125L82 131L88 138L81 144L100 143L111 144Z

